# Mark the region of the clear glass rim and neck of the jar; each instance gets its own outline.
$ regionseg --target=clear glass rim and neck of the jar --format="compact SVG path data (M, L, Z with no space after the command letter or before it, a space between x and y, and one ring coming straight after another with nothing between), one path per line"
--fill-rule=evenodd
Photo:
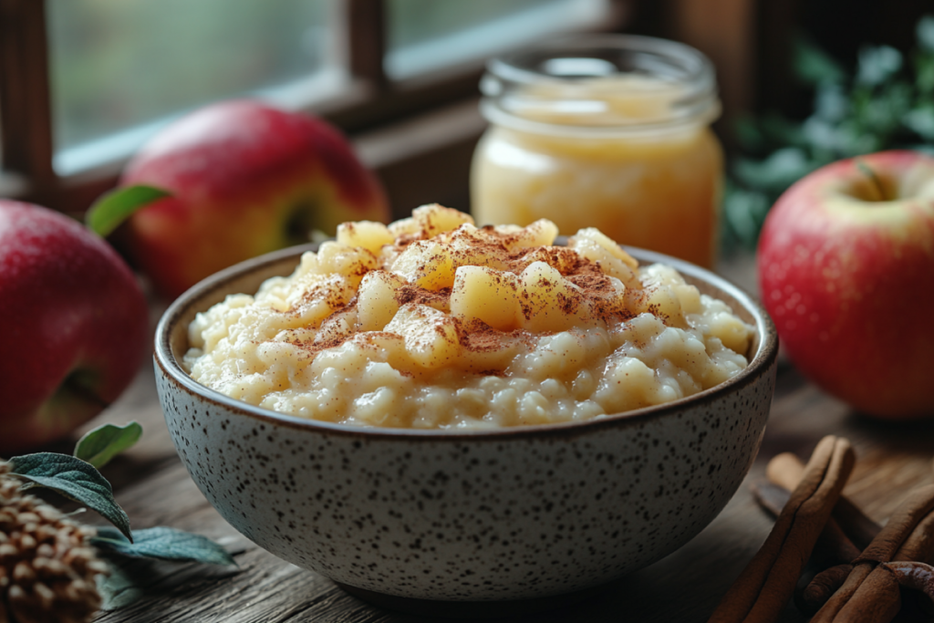
M585 105L601 99L587 91L587 85L597 84L599 78L651 78L659 88L671 90L677 86L677 92L650 120L616 119L607 124L579 125L573 117L564 121L533 120L517 113L519 102L555 105L560 101L565 107L586 110ZM618 92L606 93L625 94L624 83L616 84L620 85ZM534 91L552 86L561 89L559 95ZM610 80L602 86L616 87ZM714 64L701 51L683 43L644 35L564 37L504 54L488 62L480 91L485 95L481 107L488 120L534 126L542 131L551 128L553 132L556 126L563 126L587 132L613 128L643 133L672 125L709 123L720 112Z

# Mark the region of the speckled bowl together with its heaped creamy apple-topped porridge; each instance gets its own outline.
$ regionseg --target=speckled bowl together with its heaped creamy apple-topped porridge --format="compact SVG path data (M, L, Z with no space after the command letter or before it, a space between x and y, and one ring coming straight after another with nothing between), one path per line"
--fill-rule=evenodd
M561 243L429 205L205 279L155 345L191 477L396 606L583 595L684 545L755 458L771 320L692 264Z

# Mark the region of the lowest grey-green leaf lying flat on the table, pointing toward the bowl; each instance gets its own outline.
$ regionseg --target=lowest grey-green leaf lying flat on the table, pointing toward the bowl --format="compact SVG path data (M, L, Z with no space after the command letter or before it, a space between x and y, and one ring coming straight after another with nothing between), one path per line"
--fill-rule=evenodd
M120 534L120 531L103 528L98 530L97 536L92 538L92 544L100 549L131 558L236 564L233 556L226 549L201 534L165 527L137 530L133 534L134 542L130 543Z

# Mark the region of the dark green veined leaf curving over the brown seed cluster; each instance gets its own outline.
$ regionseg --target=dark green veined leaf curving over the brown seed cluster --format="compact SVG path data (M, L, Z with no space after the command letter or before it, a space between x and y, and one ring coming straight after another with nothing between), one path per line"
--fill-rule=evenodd
M10 474L88 506L133 541L130 518L114 500L110 483L91 463L57 452L26 454L9 463Z

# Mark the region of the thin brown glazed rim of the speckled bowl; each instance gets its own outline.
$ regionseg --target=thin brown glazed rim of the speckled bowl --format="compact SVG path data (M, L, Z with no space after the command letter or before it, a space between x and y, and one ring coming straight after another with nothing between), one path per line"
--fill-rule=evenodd
M569 434L578 434L590 432L594 429L605 427L618 427L620 425L629 426L642 424L647 420L664 418L682 410L687 405L697 405L710 403L718 398L729 394L733 389L739 389L741 386L754 381L759 373L764 373L774 367L778 356L778 333L775 325L766 312L765 307L760 304L755 297L747 293L739 286L733 284L728 279L718 276L715 273L702 268L696 264L679 260L663 253L651 251L644 248L636 248L622 245L627 252L635 257L640 264L642 263L663 263L671 266L683 276L691 276L695 279L708 282L719 290L729 294L738 303L745 307L755 319L755 329L758 335L759 344L755 356L748 362L745 368L726 381L715 385L713 388L703 389L696 394L679 398L670 403L656 404L653 406L632 409L616 414L608 414L598 418L589 418L573 422L557 422L552 424L535 424L528 426L512 426L497 429L478 429L478 430L450 430L450 429L402 429L402 428L383 428L369 427L354 424L340 424L336 422L321 421L311 418L302 418L285 413L279 413L271 409L265 409L261 406L248 404L237 400L226 394L222 394L215 389L210 389L205 385L194 380L172 352L171 335L177 320L182 318L191 308L206 294L221 290L229 282L249 272L257 271L263 267L277 262L282 262L290 258L300 261L305 251L316 250L317 243L306 243L290 248L279 249L264 255L239 262L220 270L219 272L207 276L190 289L177 297L163 312L159 323L156 326L154 337L153 360L156 365L162 369L163 374L178 385L187 389L191 394L197 395L207 402L219 404L230 410L237 411L240 414L252 418L262 423L285 425L294 429L317 431L329 434L343 434L348 436L364 438L391 438L391 439L426 439L432 441L465 441L465 440L501 440L513 437L540 437L551 435L567 436ZM228 292L235 293L235 292ZM204 311L204 310L199 310ZM163 407L164 409L164 407Z

